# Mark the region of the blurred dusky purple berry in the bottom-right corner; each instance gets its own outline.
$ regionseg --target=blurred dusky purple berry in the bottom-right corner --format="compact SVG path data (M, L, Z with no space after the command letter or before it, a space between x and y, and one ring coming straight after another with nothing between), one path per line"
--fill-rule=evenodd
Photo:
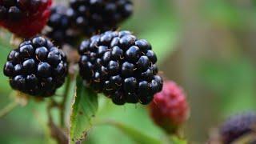
M239 114L226 121L220 129L222 143L229 144L244 134L255 132L256 114Z

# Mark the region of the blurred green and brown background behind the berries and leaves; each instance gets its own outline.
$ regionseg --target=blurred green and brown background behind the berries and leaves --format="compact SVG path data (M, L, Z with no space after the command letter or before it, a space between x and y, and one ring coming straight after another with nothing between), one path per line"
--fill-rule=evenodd
M63 2L63 1L62 1ZM146 38L166 78L186 90L191 106L186 136L206 142L227 116L256 106L256 2L253 0L134 0L134 15L120 29ZM0 66L10 52L10 34L1 33ZM0 108L11 101L8 79L0 74ZM54 143L46 127L46 104L30 102L0 119L0 143ZM55 114L58 117L58 114ZM114 119L154 138L163 131L145 106L100 101L98 119ZM85 143L135 143L113 126L94 126Z

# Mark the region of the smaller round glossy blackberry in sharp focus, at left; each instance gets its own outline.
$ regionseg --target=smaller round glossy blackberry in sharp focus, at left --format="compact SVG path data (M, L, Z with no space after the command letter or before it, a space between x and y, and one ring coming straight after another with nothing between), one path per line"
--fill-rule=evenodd
M48 39L38 36L12 50L3 71L14 90L51 96L65 82L66 55Z

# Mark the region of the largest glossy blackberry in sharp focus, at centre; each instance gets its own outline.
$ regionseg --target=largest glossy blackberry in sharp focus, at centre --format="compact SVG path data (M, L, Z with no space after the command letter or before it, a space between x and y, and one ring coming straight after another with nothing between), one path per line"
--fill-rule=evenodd
M148 104L162 90L157 57L149 42L129 31L107 31L82 42L80 75L115 104Z

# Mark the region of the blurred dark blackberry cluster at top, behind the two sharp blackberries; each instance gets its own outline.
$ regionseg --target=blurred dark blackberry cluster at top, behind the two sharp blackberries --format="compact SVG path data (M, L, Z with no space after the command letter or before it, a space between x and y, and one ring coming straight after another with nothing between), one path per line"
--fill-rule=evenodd
M81 37L116 29L132 10L130 0L71 0L70 7L54 6L46 35L59 46L75 46Z

